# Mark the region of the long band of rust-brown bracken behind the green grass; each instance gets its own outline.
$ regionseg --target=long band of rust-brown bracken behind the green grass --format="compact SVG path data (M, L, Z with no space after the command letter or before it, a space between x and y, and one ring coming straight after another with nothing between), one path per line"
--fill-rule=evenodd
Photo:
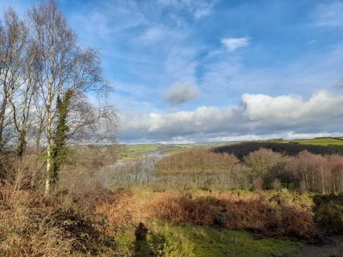
M231 230L252 230L265 236L311 238L314 225L308 208L292 202L268 201L260 194L243 197L218 195L162 197L152 204L152 216L176 223L221 225Z

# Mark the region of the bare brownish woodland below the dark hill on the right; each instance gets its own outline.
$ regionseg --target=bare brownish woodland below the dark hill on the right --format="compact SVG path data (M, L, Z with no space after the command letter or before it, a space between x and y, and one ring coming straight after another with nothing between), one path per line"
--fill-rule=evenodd
M233 154L196 149L167 156L154 168L160 183L177 178L173 180L176 187L343 193L343 156L322 156L306 150L287 156L260 148L239 160Z

